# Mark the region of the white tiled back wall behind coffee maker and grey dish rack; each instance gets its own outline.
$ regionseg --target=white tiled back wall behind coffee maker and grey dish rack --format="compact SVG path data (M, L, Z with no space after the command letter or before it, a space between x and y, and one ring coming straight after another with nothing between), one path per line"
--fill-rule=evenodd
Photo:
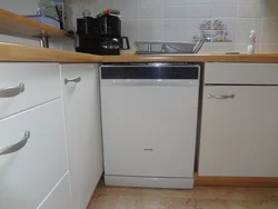
M192 41L203 21L221 20L231 42L210 42L202 51L246 51L249 32L257 32L257 52L278 52L277 0L91 0L93 14L122 12L122 33L130 42ZM216 33L214 30L207 31Z

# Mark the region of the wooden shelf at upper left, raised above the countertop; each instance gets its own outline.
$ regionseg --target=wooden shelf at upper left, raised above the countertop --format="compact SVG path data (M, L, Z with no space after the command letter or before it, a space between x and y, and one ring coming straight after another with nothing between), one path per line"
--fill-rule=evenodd
M50 41L75 38L63 30L0 9L0 33L36 39L33 36L40 36L42 31L50 36Z

